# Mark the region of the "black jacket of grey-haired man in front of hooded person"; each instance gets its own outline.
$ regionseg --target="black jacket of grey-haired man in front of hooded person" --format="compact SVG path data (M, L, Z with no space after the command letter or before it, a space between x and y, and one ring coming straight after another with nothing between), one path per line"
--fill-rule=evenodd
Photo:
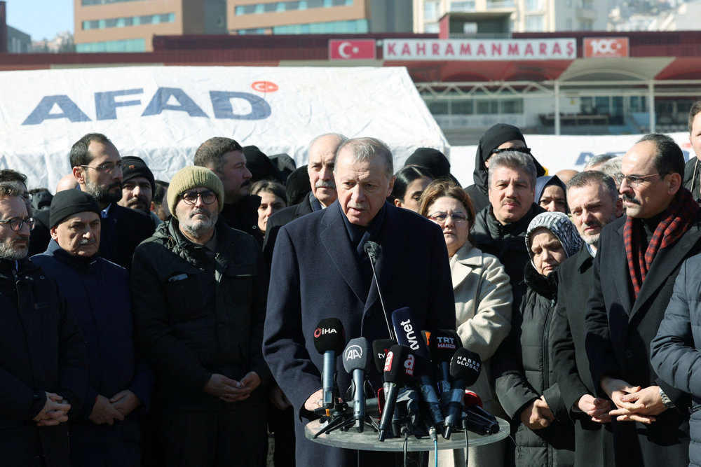
M491 205L489 205L477 213L475 225L470 230L472 243L484 253L496 256L504 265L514 293L515 311L519 309L526 293L524 267L531 262L526 249L526 229L533 218L541 212L545 212L545 209L533 203L531 210L519 221L502 225L491 214Z

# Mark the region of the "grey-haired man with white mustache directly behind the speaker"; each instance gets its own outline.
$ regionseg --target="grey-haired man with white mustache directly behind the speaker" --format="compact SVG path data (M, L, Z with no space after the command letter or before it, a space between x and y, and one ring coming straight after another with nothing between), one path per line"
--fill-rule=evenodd
M275 238L278 236L278 230L283 225L305 214L321 211L336 201L336 197L338 197L336 183L334 183L336 149L346 140L348 138L337 133L320 134L311 140L308 151L309 162L307 164L311 193L301 203L282 209L268 219L265 243L263 245L263 256L268 267L273 261Z

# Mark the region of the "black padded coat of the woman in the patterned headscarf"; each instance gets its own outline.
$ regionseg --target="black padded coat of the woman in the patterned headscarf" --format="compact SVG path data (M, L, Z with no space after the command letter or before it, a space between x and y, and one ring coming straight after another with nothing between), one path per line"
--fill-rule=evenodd
M496 395L512 417L517 466L571 466L574 463L574 428L559 386L552 374L550 326L557 304L557 274L543 277L529 262L528 286L521 310L511 321L511 333L492 358ZM555 421L532 431L521 423L521 412L545 396Z

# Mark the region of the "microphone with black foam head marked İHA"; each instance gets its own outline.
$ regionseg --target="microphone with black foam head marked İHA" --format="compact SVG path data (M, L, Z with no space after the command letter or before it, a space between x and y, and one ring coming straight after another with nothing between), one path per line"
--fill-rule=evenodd
M336 356L340 355L346 345L346 335L343 332L343 323L338 318L325 318L319 321L314 330L314 347L324 356L324 368L321 373L322 400L327 417L331 415L336 398L334 387L336 386Z

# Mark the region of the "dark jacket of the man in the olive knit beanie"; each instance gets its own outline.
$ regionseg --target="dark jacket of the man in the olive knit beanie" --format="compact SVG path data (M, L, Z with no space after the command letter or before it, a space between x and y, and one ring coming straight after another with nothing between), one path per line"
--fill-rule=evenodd
M203 392L212 373L270 375L263 359L268 274L250 235L217 223L214 260L189 242L177 219L158 226L134 253L132 305L139 342L163 398L179 407L235 410ZM262 384L261 384L262 386Z

